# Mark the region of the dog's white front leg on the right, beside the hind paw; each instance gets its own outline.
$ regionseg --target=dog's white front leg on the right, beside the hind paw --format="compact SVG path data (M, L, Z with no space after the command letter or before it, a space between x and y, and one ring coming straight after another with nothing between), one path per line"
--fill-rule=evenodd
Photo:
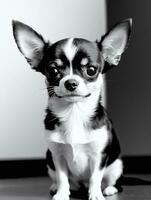
M104 200L101 191L101 182L103 178L104 169L100 167L100 156L91 158L90 163L90 179L89 179L89 200Z

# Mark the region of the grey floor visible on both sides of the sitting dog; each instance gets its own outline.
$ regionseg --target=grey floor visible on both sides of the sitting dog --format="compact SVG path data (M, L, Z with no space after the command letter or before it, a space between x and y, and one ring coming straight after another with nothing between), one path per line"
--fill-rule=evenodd
M129 175L129 177L132 178L127 182L130 185L123 186L122 193L106 199L151 200L151 184L142 181L151 181L151 175ZM0 180L0 200L50 200L49 185L49 178L44 177Z

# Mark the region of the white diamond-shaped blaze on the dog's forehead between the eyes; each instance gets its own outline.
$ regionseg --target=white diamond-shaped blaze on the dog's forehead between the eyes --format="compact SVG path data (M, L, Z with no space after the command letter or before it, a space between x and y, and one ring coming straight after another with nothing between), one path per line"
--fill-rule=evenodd
M68 39L67 43L64 46L64 53L70 63L73 60L76 52L77 52L77 48L73 44L73 38Z

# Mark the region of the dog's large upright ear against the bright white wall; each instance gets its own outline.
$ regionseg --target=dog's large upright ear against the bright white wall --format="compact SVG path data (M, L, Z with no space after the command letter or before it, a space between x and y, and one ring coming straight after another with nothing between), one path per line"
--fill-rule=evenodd
M19 21L12 21L13 34L20 52L31 67L38 71L38 65L44 55L45 41L30 26Z

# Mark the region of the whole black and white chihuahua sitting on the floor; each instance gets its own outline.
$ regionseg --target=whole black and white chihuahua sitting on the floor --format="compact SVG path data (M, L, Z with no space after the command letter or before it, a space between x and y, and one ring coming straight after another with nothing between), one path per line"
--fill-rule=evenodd
M116 24L101 41L68 38L51 44L31 27L13 21L19 50L32 69L46 77L44 124L52 158L51 189L57 190L53 200L69 200L70 188L79 183L87 185L89 200L118 192L120 146L101 98L103 73L118 65L131 25L131 19Z

